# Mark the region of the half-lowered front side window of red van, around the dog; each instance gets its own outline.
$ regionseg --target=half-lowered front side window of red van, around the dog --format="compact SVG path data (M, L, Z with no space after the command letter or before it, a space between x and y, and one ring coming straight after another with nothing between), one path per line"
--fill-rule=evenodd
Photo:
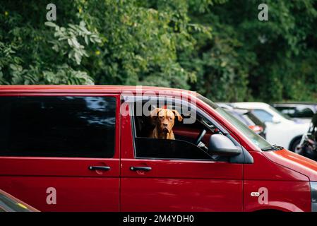
M172 131L174 139L152 138L151 133L157 120L154 120L149 112L155 108L176 109L183 120L174 119ZM143 109L142 111L139 111ZM205 119L193 109L184 112L184 106L175 105L174 102L134 102L131 104L135 155L137 158L154 158L168 160L219 160L218 156L208 154L210 136L221 133L214 124ZM194 109L196 111L196 109ZM195 115L193 116L194 113ZM194 119L191 119L193 118ZM198 135L205 130L205 136L201 140L201 145L196 144Z

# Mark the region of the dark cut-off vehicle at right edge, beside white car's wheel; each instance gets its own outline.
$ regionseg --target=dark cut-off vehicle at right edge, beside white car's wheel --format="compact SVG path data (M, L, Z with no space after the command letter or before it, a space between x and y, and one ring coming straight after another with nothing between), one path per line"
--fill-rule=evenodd
M301 143L296 152L317 160L317 114L313 115L311 126L309 126L309 130L301 138Z

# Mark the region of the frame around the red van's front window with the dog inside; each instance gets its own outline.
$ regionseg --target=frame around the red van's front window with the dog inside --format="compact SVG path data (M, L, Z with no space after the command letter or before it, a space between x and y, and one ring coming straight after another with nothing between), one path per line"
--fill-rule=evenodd
M196 109L196 114L198 114L200 117L203 117L204 119L207 119L209 123L213 124L214 126L217 127L217 129L219 129L221 131L221 133L224 136L228 136L231 140L233 139L234 143L237 144L239 143L239 141L236 141L234 138L232 138L232 136L229 135L229 132L223 127L221 126L217 121L215 121L215 119L213 119L213 117L210 117L209 114L207 114L206 112L203 111L203 109L192 105L191 103L184 101L184 100L179 100L176 97L152 97L152 96L142 96L142 97L138 97L138 96L133 96L133 97L124 97L125 102L128 102L128 109L129 109L129 116L130 116L130 121L131 121L131 131L132 131L132 140L133 140L133 157L136 160L176 160L176 161L199 161L199 162L229 162L229 157L218 157L217 159L213 160L213 159L188 159L188 158L158 158L158 157L137 157L136 155L136 121L134 119L134 105L136 104L136 102L139 101L146 101L146 100L152 100L152 101L157 101L157 100L170 100L173 105L177 105L179 103L181 103L181 105L186 105L187 107L191 107L191 109ZM181 141L181 140L180 140ZM193 145L193 143L191 143ZM241 146L241 144L239 143L239 145ZM196 146L196 148L198 148ZM201 150L203 151L203 150Z

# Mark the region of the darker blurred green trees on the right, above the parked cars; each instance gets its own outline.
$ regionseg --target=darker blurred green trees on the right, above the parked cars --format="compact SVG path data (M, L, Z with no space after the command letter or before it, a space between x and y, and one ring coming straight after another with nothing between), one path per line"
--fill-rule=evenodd
M268 4L268 21L258 5ZM184 65L197 71L191 87L221 101L315 100L317 1L221 1L196 23L213 27L213 39L196 36Z

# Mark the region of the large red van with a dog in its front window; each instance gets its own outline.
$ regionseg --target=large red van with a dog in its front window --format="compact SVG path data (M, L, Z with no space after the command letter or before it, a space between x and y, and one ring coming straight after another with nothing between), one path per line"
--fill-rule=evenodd
M173 108L174 140L149 138ZM0 86L0 189L41 211L317 211L317 164L197 93Z

